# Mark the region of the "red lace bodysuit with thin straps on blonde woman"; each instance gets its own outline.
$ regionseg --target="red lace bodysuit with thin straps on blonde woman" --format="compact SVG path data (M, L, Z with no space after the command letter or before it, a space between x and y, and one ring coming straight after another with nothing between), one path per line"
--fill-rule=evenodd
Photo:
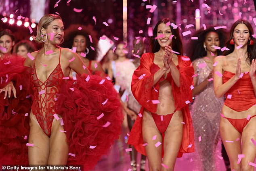
M53 115L55 114L55 100L57 100L56 94L60 91L61 82L63 81L64 77L61 69L60 59L61 49L59 52L58 65L44 82L37 77L35 62L31 73L31 84L34 91L34 101L31 109L33 114L36 116L40 127L48 136L50 136L52 121L54 118Z

